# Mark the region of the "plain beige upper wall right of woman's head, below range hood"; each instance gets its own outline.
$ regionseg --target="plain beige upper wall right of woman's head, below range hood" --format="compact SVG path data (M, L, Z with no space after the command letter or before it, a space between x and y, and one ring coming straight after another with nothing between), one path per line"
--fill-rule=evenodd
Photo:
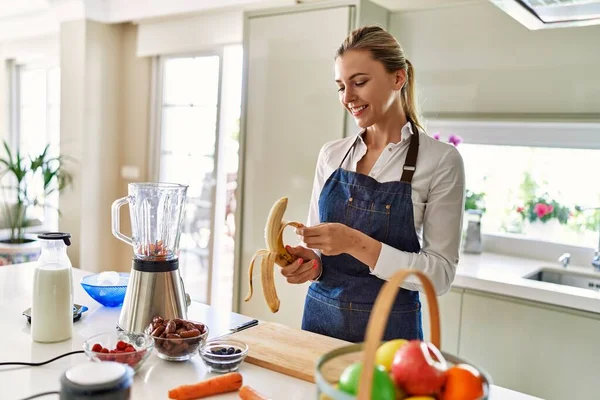
M600 112L600 26L529 31L489 2L394 13L436 113Z

